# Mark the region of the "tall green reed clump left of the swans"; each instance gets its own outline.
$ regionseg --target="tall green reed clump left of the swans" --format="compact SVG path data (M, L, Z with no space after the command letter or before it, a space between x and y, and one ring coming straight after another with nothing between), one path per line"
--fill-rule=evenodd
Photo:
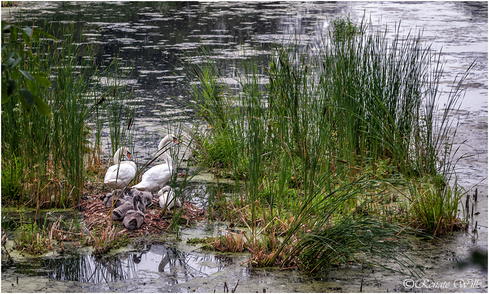
M51 30L46 27L47 31ZM127 83L121 82L130 70L122 70L117 58L108 66L97 65L91 45L77 42L73 30L72 26L65 26L54 32L53 35L63 36L61 41L39 38L40 32L34 30L32 36L37 36L36 42L29 43L29 50L36 54L27 54L28 61L18 62L23 71L32 72L34 76L39 73L35 78L37 83L26 76L20 78L18 87L27 87L36 96L45 97L49 115L25 108L22 102L25 97L16 91L10 93L12 98L2 99L3 205L76 206L83 194L86 167L92 164L94 172L93 164L101 162L99 146L104 121L123 130L118 131L122 135L117 136L111 128L112 149L130 137L126 132L132 130L131 114L138 104L127 105L124 98L131 95L131 91ZM2 34L2 44L8 38L15 38L13 36L13 30ZM7 80L4 72L9 70L2 71L2 84ZM49 75L50 80L42 72ZM117 75L118 79L113 79L112 75ZM102 84L100 81L104 79L108 82ZM36 102L35 105L39 110L41 104ZM89 136L93 139L89 140ZM89 141L93 145L90 146Z

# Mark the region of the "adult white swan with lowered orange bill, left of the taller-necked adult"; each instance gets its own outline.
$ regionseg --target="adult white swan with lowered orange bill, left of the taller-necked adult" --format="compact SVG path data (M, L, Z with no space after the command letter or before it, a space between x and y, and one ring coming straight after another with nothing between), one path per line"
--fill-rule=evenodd
M136 164L133 161L121 161L121 153L124 153L131 159L131 153L127 147L117 149L114 154L114 165L107 169L105 173L104 183L111 189L124 189L136 175Z

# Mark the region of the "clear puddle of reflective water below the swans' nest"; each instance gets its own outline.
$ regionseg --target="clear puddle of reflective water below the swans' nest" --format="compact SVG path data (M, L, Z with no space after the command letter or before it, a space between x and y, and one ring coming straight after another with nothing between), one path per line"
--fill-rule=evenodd
M232 259L226 256L185 253L166 245L150 245L138 253L103 257L76 254L66 258L45 258L38 266L16 264L15 268L22 274L84 283L117 282L141 274L156 274L164 278L167 284L175 285L222 271L231 264Z

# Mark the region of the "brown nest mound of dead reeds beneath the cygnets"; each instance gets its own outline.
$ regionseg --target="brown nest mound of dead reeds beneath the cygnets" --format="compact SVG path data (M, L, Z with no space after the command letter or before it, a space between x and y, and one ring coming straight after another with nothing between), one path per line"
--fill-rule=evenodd
M93 230L95 227L106 226L109 223L120 223L121 232L128 236L147 236L150 234L160 234L168 229L170 226L174 210L167 210L163 212L163 208L160 208L158 202L153 198L153 205L146 207L144 212L145 219L143 225L134 231L130 231L122 226L122 222L114 221L112 219L112 210L110 207L104 207L103 197L89 197L80 202L80 207L84 216L83 223L88 230ZM192 202L184 202L183 209L179 216L178 224L183 226L190 226L205 218L205 210L193 205Z

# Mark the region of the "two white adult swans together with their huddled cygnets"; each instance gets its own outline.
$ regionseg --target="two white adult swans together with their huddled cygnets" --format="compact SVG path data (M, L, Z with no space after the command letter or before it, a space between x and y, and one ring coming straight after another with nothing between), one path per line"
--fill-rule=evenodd
M104 183L113 192L107 193L104 199L104 206L112 210L112 218L116 221L122 221L124 227L129 230L135 230L144 223L144 211L146 207L153 204L153 194L158 191L158 202L161 208L171 209L175 205L181 206L180 201L175 200L173 189L166 185L172 178L173 160L164 151L164 148L170 142L178 143L176 137L168 134L160 140L158 152L156 155L161 156L165 163L157 164L147 170L141 177L141 181L131 188L129 183L133 181L136 175L136 164L130 160L120 161L125 155L131 159L131 153L126 146L123 146L115 152L113 156L113 165L107 169L104 177Z

